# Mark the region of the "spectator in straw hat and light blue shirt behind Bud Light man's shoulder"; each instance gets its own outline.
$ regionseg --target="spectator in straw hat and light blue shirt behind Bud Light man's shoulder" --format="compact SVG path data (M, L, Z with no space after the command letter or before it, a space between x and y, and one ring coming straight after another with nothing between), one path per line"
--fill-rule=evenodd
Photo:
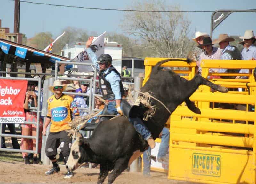
M70 83L70 84L67 85L67 88L66 88L65 91L66 92L76 92L76 88L75 88L73 83ZM76 106L78 108L79 107L81 107L81 108L87 108L88 107L82 96L79 96L79 95L69 95L69 96L71 96L74 99L74 102L76 103ZM81 109L79 109L78 111L79 111L80 116L85 116L85 115L88 114L84 110L81 110Z

